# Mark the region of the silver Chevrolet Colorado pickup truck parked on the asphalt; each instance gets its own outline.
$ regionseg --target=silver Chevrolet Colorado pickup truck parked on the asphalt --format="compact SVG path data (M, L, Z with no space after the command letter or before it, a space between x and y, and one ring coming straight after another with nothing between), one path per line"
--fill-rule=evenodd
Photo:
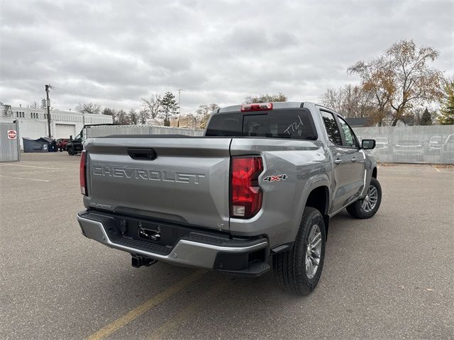
M374 147L307 102L220 108L203 137L89 138L77 220L135 267L161 260L259 276L272 263L284 290L306 295L321 276L329 218L380 207Z

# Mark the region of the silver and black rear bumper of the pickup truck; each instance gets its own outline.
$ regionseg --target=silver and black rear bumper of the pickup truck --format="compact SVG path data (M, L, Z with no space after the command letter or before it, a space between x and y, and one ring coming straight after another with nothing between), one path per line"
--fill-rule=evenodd
M258 276L270 269L266 262L270 251L265 237L232 240L197 231L178 239L174 246L163 246L122 237L114 219L106 215L79 212L77 221L85 237L150 259L240 275Z

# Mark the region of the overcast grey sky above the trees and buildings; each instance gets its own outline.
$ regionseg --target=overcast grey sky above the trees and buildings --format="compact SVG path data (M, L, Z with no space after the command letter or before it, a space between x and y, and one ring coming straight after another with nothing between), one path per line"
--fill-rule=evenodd
M279 91L319 101L393 42L440 51L454 74L454 1L4 1L0 101L140 108L182 89L182 113Z

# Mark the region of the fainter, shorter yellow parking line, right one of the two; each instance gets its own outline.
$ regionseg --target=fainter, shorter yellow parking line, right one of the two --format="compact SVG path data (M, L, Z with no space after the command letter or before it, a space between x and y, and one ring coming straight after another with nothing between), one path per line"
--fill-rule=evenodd
M218 293L219 290L221 290L223 287L225 287L227 285L227 283L229 283L229 282L230 282L230 280L225 280L225 278L224 278L223 283L220 283L220 284L215 283L209 290L206 291L206 293L204 293L204 295L197 298L197 300L195 302L193 302L188 307L184 308L184 310L182 310L177 315L175 315L175 317L172 317L172 319L165 322L164 324L162 324L161 327L159 327L158 329L153 331L153 333L150 334L150 336L148 336L147 340L162 339L162 337L165 334L168 334L172 329L175 329L180 324L183 324L184 322L186 322L187 319L189 319L189 317L192 317L192 315L194 315L196 310L198 310L199 307L201 307L201 305L204 302L206 302L207 300L209 300L210 297L212 297L213 295Z

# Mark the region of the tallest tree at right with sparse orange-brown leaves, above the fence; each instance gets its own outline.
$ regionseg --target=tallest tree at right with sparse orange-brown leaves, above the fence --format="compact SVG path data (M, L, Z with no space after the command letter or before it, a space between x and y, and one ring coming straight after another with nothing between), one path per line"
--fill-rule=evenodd
M377 118L390 114L392 125L408 113L415 104L439 101L443 96L443 73L428 62L438 57L433 47L416 47L413 40L394 43L384 55L357 62L348 72L358 74L362 88L372 91L377 106Z

